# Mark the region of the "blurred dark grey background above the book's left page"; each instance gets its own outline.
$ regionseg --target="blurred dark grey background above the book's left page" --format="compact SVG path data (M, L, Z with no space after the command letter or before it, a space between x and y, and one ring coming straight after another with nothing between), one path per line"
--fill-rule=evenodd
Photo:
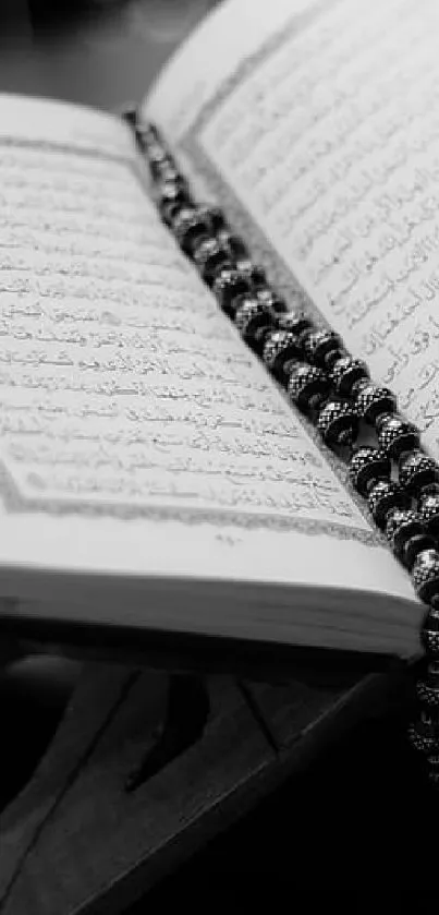
M139 100L218 0L0 0L0 92Z

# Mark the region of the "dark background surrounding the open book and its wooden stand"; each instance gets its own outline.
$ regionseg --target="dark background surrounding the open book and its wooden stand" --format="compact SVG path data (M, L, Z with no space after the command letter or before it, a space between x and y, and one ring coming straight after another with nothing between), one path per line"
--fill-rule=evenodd
M0 0L0 92L107 109L138 100L209 5ZM1 674L0 807L31 774L76 676L74 664L53 660ZM399 710L361 722L135 913L171 905L252 912L258 903L298 913L437 912L437 809Z

